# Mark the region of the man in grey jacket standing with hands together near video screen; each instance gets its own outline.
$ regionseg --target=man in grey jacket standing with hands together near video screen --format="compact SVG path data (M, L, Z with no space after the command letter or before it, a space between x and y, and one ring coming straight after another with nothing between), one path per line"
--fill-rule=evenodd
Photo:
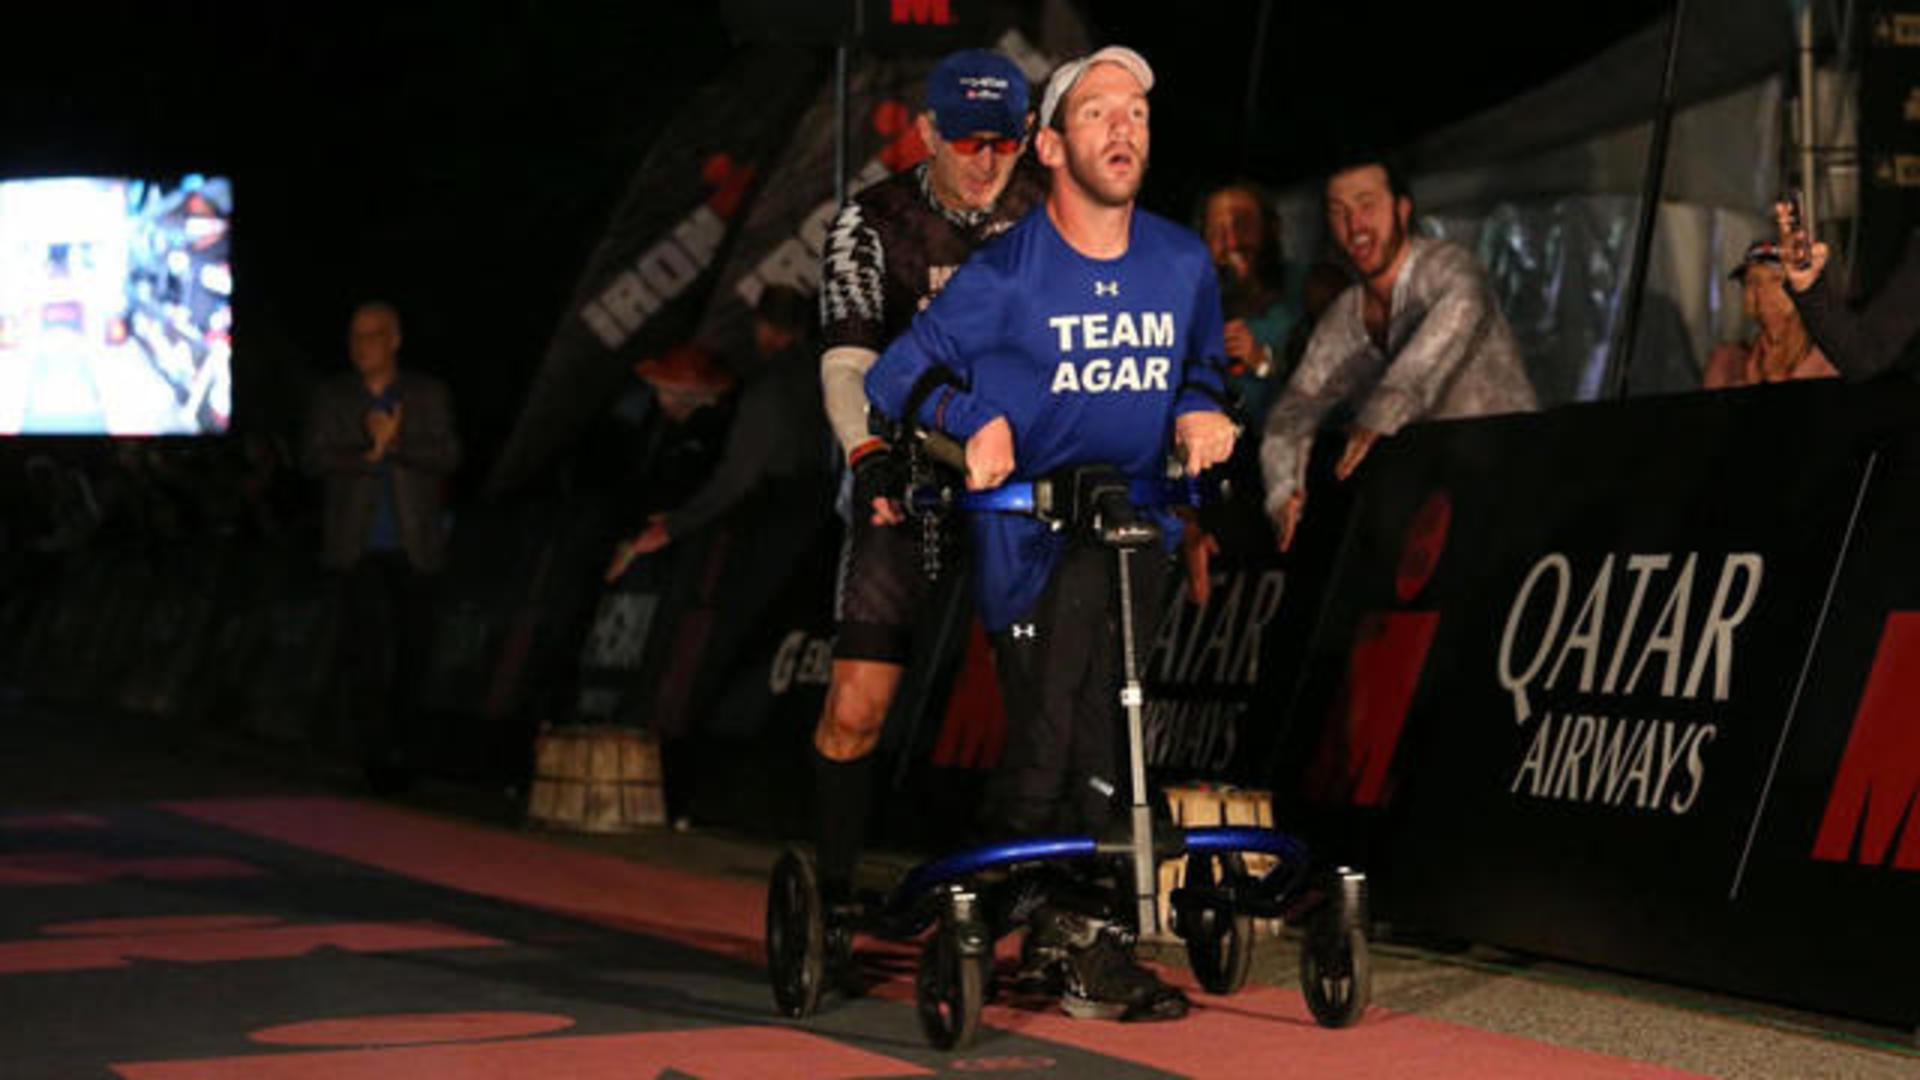
M348 334L353 371L323 382L301 461L323 480L321 561L346 575L340 648L367 780L409 778L407 726L445 565L445 482L459 467L447 388L399 369L399 313L363 304Z

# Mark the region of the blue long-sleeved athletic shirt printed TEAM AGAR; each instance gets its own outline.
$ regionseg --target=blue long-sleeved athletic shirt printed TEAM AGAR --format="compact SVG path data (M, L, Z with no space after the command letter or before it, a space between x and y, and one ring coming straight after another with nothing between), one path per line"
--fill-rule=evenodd
M954 273L866 375L874 405L899 417L920 377L945 365L964 388L927 396L916 417L966 442L995 417L1014 429L1012 480L1066 465L1165 473L1173 417L1217 411L1227 354L1219 281L1200 236L1133 211L1127 254L1092 259L1054 229L1044 204ZM1167 548L1179 519L1160 511ZM1039 600L1068 538L1012 513L972 519L975 588L989 630Z

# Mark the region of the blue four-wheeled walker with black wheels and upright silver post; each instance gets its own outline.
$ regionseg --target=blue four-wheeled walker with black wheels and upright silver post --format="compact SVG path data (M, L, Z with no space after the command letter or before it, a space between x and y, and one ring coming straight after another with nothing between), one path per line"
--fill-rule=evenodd
M1173 828L1164 836L1154 830L1142 744L1144 692L1131 619L1131 557L1135 550L1160 542L1160 528L1137 507L1200 502L1192 480L1129 484L1108 469L1092 467L989 492L962 492L952 484L916 484L908 490L908 511L922 519L947 511L1023 513L1054 528L1087 528L1114 550L1123 613L1119 703L1127 713L1131 828L1121 842L1031 836L973 847L922 863L885 896L835 913L826 911L812 855L789 847L774 865L766 897L766 965L780 1015L803 1019L820 1007L829 947L851 949L852 934L893 942L925 934L914 978L920 1026L935 1049L962 1049L979 1030L993 980L993 945L1010 930L989 924L981 899L985 876L1020 874L1043 863L1117 857L1131 867L1135 930L1144 936L1160 930L1158 863L1185 855L1185 884L1171 896L1171 930L1185 942L1194 980L1206 992L1240 990L1254 963L1254 919L1284 919L1302 928L1300 990L1313 1019L1327 1028L1359 1020L1371 994L1363 872L1313 869L1306 844L1273 828ZM1254 876L1244 853L1273 855L1277 863Z

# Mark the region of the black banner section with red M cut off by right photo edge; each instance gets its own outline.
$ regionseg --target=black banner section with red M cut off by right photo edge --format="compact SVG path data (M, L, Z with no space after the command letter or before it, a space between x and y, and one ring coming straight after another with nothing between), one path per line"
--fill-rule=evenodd
M1770 934L1768 995L1914 1026L1920 992L1920 436L1880 442L1820 642L1763 801L1740 838L1728 907ZM1793 915L1818 930L1780 934ZM1766 919L1772 917L1772 919ZM1784 940L1782 940L1784 938ZM1745 965L1741 965L1745 967ZM1766 982L1761 982L1766 980Z

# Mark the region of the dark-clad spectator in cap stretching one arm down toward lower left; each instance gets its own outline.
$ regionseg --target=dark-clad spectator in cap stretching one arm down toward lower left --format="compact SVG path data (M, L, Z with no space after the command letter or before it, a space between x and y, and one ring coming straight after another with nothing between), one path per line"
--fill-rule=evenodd
M753 309L756 359L739 365L747 369L745 386L720 461L693 496L674 509L649 515L647 527L614 550L607 580L626 573L639 555L691 536L756 492L818 480L812 486L822 502L828 498L828 427L820 411L812 350L806 348L812 315L812 298L795 288L772 284L760 292ZM666 398L680 390L657 375L655 392L660 394L662 409Z

